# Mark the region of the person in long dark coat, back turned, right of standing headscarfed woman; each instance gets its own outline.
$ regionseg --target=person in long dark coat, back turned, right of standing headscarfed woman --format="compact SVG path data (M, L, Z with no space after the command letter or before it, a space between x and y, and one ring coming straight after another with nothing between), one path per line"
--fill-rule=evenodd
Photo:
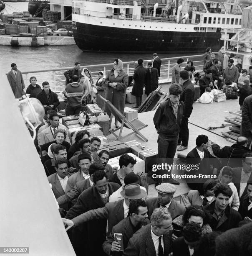
M131 94L136 96L136 105L133 108L139 108L142 102L144 81L147 74L147 69L143 67L143 62L143 59L139 59L137 61L138 66L136 67L133 75L134 85Z

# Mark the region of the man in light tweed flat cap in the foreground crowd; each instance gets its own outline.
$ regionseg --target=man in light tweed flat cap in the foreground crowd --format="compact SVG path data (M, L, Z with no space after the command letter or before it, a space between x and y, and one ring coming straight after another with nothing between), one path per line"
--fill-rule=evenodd
M149 216L152 215L155 208L159 207L167 208L172 219L184 214L186 211L184 205L173 199L173 195L176 192L176 187L173 184L162 183L156 186L156 191L158 192L158 197L151 197L146 200Z

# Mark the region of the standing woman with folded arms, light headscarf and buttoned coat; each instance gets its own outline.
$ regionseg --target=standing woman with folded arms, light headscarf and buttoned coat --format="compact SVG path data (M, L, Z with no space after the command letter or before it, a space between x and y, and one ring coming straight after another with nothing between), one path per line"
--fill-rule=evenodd
M113 69L108 72L105 81L108 87L106 99L109 100L114 107L123 114L129 76L123 71L123 61L121 61L121 59L114 60ZM106 111L108 112L108 115L111 115L108 110ZM116 128L119 127L116 119L115 125Z

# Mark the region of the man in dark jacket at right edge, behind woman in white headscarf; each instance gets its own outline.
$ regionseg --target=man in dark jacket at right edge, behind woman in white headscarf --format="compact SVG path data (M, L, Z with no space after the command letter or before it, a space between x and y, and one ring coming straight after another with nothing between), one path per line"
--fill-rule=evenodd
M246 153L243 155L242 167L233 168L234 177L233 182L237 188L237 192L240 200L247 193L247 182L252 177L252 153Z

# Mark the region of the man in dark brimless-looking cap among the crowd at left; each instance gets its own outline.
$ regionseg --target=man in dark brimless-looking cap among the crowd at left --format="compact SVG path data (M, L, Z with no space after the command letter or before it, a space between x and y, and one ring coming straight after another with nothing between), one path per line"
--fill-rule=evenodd
M77 182L88 179L90 177L88 172L89 166L91 165L90 155L86 153L78 155L78 165L80 169L78 172L74 173L71 177L69 177L66 184L66 192L73 189Z

